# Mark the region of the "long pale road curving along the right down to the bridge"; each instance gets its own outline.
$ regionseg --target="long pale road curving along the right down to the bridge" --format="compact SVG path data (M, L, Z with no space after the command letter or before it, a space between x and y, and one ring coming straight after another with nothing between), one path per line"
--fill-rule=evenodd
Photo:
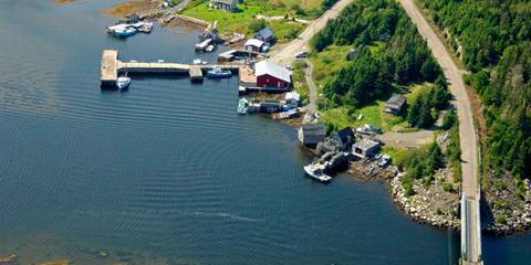
M459 117L459 138L461 144L461 167L462 167L462 191L469 197L478 194L478 147L476 144L476 130L473 128L472 110L470 100L468 98L465 84L462 82L462 70L459 70L451 60L450 54L445 49L445 45L439 40L434 30L426 22L424 17L418 11L417 7L412 0L399 0L400 4L406 10L409 18L417 25L420 35L427 40L428 46L435 59L439 62L446 78L448 80L451 94L455 96L454 106L456 106L457 115ZM476 203L472 208L479 206ZM476 212L475 209L471 209ZM476 223L476 219L471 220ZM472 225L473 226L473 225ZM470 256L471 261L478 259L478 242L473 235L470 240L471 248L473 250Z

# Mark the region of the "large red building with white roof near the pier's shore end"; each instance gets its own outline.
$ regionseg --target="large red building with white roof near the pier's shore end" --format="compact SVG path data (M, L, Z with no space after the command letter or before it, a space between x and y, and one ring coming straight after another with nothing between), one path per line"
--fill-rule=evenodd
M291 84L290 72L268 61L258 62L254 65L258 87L287 88Z

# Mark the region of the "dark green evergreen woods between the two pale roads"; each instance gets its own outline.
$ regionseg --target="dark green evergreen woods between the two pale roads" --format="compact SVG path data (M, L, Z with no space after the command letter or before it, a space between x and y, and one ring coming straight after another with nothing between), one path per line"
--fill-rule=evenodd
M329 106L360 108L392 89L392 83L407 84L416 81L441 81L429 94L429 99L416 103L417 112L410 115L414 126L427 127L434 121L431 109L448 102L448 89L440 66L431 56L426 41L405 11L393 0L354 1L324 30L311 40L320 52L329 45L362 46L352 62L323 87ZM369 46L378 46L371 51ZM346 57L346 54L345 54ZM423 105L423 103L426 103ZM420 106L423 105L423 106ZM418 117L426 117L417 121Z

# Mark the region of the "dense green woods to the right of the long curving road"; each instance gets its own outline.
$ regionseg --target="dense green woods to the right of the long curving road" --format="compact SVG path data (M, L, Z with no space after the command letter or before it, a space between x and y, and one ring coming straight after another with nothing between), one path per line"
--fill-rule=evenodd
M421 0L472 71L488 129L485 161L518 180L531 174L531 1Z

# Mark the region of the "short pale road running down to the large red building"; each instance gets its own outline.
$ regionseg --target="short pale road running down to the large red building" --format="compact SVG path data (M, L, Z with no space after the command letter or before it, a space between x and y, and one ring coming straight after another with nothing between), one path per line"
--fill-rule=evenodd
M308 28L293 41L277 46L271 52L270 61L280 65L291 64L295 57L294 55L301 51L308 51L308 41L320 30L324 29L329 19L335 18L340 12L348 6L353 0L340 0L331 9L324 12L316 20L311 21Z

